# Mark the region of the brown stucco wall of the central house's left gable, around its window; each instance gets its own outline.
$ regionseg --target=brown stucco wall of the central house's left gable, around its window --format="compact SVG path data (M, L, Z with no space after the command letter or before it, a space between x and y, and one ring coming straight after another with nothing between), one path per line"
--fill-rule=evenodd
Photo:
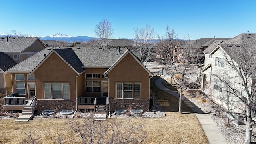
M36 98L44 99L44 83L70 83L70 99L76 98L76 72L57 54L52 55L34 72L36 78Z

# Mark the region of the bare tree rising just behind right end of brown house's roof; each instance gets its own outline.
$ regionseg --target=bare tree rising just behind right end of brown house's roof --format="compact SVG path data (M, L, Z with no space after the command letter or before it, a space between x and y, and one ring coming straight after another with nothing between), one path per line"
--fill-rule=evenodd
M139 53L142 64L146 66L152 58L153 42L156 34L152 26L146 25L145 28L134 29L134 49Z

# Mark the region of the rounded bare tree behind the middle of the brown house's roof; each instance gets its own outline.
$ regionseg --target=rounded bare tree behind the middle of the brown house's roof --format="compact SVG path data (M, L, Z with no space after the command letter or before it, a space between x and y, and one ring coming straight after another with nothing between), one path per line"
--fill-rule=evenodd
M96 37L100 39L95 40L97 47L107 48L111 43L112 36L114 35L114 30L110 21L104 19L96 24L94 32L96 34Z

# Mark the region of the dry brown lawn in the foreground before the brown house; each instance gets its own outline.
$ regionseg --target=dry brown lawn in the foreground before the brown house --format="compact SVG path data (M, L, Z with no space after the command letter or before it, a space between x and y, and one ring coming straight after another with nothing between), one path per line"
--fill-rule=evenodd
M58 133L66 137L70 131L67 126L70 119L34 119L28 122L15 122L14 119L0 120L0 143L16 144L26 134L39 138L40 144L49 144L52 141L46 137L47 134ZM72 119L73 120L73 119ZM143 124L148 138L146 144L207 144L208 140L194 114L178 114L177 112L166 112L162 118L110 118L104 123L117 122L131 125ZM25 134L26 133L26 134Z

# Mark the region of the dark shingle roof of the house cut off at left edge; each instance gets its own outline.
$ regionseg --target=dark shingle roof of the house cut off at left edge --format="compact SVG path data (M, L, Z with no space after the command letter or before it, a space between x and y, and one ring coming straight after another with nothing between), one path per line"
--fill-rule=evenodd
M0 53L0 68L5 72L9 68L15 66L17 62L15 62L8 54L4 52Z

